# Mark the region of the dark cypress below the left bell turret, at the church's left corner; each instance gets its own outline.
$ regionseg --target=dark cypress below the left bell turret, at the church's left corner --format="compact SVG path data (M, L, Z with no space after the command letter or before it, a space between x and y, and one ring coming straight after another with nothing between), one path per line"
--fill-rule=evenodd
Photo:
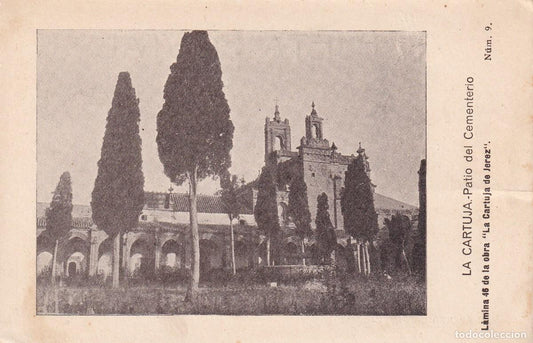
M276 178L273 167L267 165L261 170L257 188L257 202L254 208L255 221L258 228L265 232L267 237L267 265L271 260L271 243L280 231Z

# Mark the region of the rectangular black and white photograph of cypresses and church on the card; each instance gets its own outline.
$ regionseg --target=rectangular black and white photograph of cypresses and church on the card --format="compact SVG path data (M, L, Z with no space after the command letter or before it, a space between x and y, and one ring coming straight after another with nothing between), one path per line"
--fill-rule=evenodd
M36 32L37 315L425 316L426 32Z

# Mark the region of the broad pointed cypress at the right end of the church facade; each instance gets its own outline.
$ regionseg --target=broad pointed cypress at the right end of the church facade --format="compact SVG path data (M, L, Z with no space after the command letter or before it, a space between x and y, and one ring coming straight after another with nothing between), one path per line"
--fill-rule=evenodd
M346 232L357 239L358 264L360 265L362 260L363 270L368 274L370 272L368 245L372 244L378 232L378 215L374 208L373 186L367 174L368 166L364 150L360 148L359 152L345 173L341 209Z

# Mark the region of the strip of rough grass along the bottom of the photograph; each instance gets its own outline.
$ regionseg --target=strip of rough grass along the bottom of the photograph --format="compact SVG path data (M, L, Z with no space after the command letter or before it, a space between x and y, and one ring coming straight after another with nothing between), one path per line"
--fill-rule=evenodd
M61 287L60 314L79 315L425 315L425 284L414 277L393 280L345 278L309 280L270 287L229 282L200 285L196 301L185 303L185 287L161 285ZM55 291L37 288L37 313L54 312ZM45 303L48 304L45 308Z

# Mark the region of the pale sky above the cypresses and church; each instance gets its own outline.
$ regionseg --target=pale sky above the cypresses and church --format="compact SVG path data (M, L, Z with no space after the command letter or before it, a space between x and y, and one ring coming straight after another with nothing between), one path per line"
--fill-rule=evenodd
M37 201L49 202L64 171L73 202L89 205L106 117L118 74L128 71L140 99L145 191L165 192L155 141L163 87L184 31L39 30ZM230 171L254 180L264 161L265 117L276 103L291 124L293 150L311 103L338 152L370 157L376 192L418 205L425 158L424 32L209 31L235 126ZM173 186L185 192L187 187ZM217 180L200 183L212 194Z

